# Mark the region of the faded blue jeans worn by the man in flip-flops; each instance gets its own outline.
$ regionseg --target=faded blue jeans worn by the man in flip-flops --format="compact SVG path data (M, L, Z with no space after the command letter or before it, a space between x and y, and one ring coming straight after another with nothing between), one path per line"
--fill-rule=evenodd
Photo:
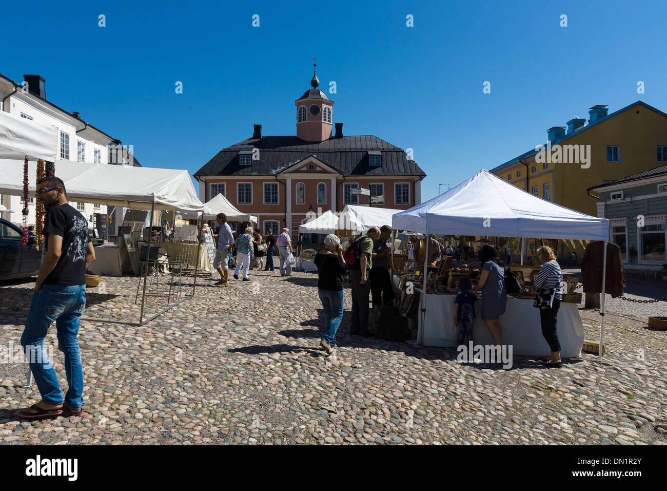
M83 309L85 285L42 285L40 291L33 293L30 313L21 336L21 345L31 362L30 369L43 401L52 405L61 404L63 393L58 376L43 349L44 338L55 321L58 349L65 353L65 376L69 385L65 404L75 411L83 403L83 369L77 339Z

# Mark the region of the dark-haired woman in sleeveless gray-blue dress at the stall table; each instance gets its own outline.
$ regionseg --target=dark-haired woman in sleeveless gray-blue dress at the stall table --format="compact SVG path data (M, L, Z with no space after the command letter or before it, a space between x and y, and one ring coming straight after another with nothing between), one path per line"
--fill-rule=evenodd
M505 313L507 291L505 289L505 272L498 253L491 244L484 244L480 251L480 280L477 290L482 291L482 319L494 338L496 346L502 345L501 315Z

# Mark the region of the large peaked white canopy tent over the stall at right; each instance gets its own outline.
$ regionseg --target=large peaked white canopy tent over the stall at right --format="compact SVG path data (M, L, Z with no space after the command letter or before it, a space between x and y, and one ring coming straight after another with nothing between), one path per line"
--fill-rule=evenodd
M604 258L600 309L600 356L604 327L604 282L609 220L538 198L480 170L458 186L414 208L394 214L393 228L424 234L464 234L602 240ZM426 255L428 257L428 240ZM426 292L426 275L424 275Z

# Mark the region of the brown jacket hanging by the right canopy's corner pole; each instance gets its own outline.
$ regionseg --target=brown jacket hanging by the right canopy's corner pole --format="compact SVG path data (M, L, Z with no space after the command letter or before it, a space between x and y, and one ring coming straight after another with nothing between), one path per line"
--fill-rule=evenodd
M582 277L584 277L584 293L602 293L602 241L596 240L586 247L582 260ZM607 243L607 273L604 292L612 298L623 295L626 286L625 271L621 250L616 244Z

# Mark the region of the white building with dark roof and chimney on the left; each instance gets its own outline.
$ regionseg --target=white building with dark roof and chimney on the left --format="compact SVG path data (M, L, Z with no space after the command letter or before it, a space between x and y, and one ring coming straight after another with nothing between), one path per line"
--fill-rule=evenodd
M0 74L0 99L2 110L21 118L55 126L58 129L58 158L71 162L94 162L96 164L135 165L139 162L127 150L123 151L120 140L112 138L83 120L78 112L69 113L46 99L45 80L39 75L23 75L23 84ZM131 147L129 148L131 150ZM130 164L130 162L132 162ZM55 175L58 175L58 162L55 162ZM37 176L29 176L35 182ZM2 217L21 225L23 216L23 198L20 196L0 196L0 202L12 213L3 213ZM90 228L106 232L107 206L70 202L85 216ZM35 225L35 197L28 202L28 223ZM113 228L123 219L122 208L108 210L113 214ZM120 220L120 221L119 221ZM115 231L111 230L114 234ZM105 238L109 238L107 235Z

